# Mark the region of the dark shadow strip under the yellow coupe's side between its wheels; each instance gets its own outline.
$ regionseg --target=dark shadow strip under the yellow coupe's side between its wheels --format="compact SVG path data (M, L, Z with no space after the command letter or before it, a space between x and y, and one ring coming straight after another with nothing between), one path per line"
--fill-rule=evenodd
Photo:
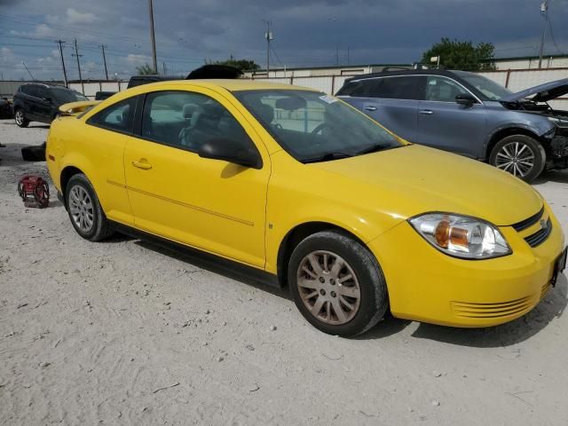
M264 272L259 272L256 268L215 255L209 255L209 253L204 253L193 248L177 248L173 245L170 246L169 243L162 243L160 241L137 240L135 244L164 256L173 257L186 264L191 264L203 270L223 275L231 280L242 282L259 290L264 290L274 296L280 296L288 300L291 299L287 288L277 287L275 282L269 283L270 279L264 278ZM265 275L269 277L269 274Z

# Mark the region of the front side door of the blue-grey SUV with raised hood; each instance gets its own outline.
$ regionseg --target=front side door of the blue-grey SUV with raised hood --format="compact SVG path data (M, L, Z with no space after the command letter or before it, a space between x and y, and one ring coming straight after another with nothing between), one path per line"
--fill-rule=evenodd
M427 77L414 142L478 158L487 131L485 106L480 100L460 105L455 101L457 95L474 96L446 76Z

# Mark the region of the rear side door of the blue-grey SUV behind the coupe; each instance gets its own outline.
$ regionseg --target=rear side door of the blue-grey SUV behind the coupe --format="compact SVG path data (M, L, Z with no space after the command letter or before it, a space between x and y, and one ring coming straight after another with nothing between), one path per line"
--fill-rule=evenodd
M386 76L360 81L351 92L351 105L358 107L384 127L414 141L421 76Z

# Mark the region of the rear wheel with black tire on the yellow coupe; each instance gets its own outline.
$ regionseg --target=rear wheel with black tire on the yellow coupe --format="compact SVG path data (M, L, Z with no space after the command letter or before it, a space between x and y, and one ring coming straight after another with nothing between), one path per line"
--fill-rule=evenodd
M65 200L71 224L85 240L101 241L113 233L97 193L85 175L76 174L69 179Z

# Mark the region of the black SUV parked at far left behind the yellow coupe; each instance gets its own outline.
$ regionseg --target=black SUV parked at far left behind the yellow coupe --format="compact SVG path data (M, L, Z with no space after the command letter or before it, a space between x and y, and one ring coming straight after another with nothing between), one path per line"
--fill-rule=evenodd
M28 127L29 122L50 124L59 114L59 106L79 100L89 99L64 86L25 83L14 94L14 119L20 127Z

